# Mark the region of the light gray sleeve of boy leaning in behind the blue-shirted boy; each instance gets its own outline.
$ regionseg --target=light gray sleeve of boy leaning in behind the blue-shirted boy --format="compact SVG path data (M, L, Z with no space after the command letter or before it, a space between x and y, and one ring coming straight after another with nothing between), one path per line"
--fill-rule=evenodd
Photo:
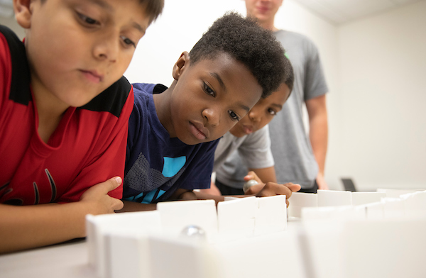
M274 165L268 125L247 135L238 148L244 165L251 169L262 169Z

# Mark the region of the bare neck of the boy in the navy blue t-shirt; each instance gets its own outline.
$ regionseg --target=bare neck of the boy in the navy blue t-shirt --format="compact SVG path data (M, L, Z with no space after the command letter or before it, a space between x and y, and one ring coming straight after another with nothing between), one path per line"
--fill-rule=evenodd
M173 84L161 94L153 94L155 111L157 113L158 120L163 125L165 130L168 131L170 138L176 137L170 112L170 101L174 88L175 82L173 82Z

